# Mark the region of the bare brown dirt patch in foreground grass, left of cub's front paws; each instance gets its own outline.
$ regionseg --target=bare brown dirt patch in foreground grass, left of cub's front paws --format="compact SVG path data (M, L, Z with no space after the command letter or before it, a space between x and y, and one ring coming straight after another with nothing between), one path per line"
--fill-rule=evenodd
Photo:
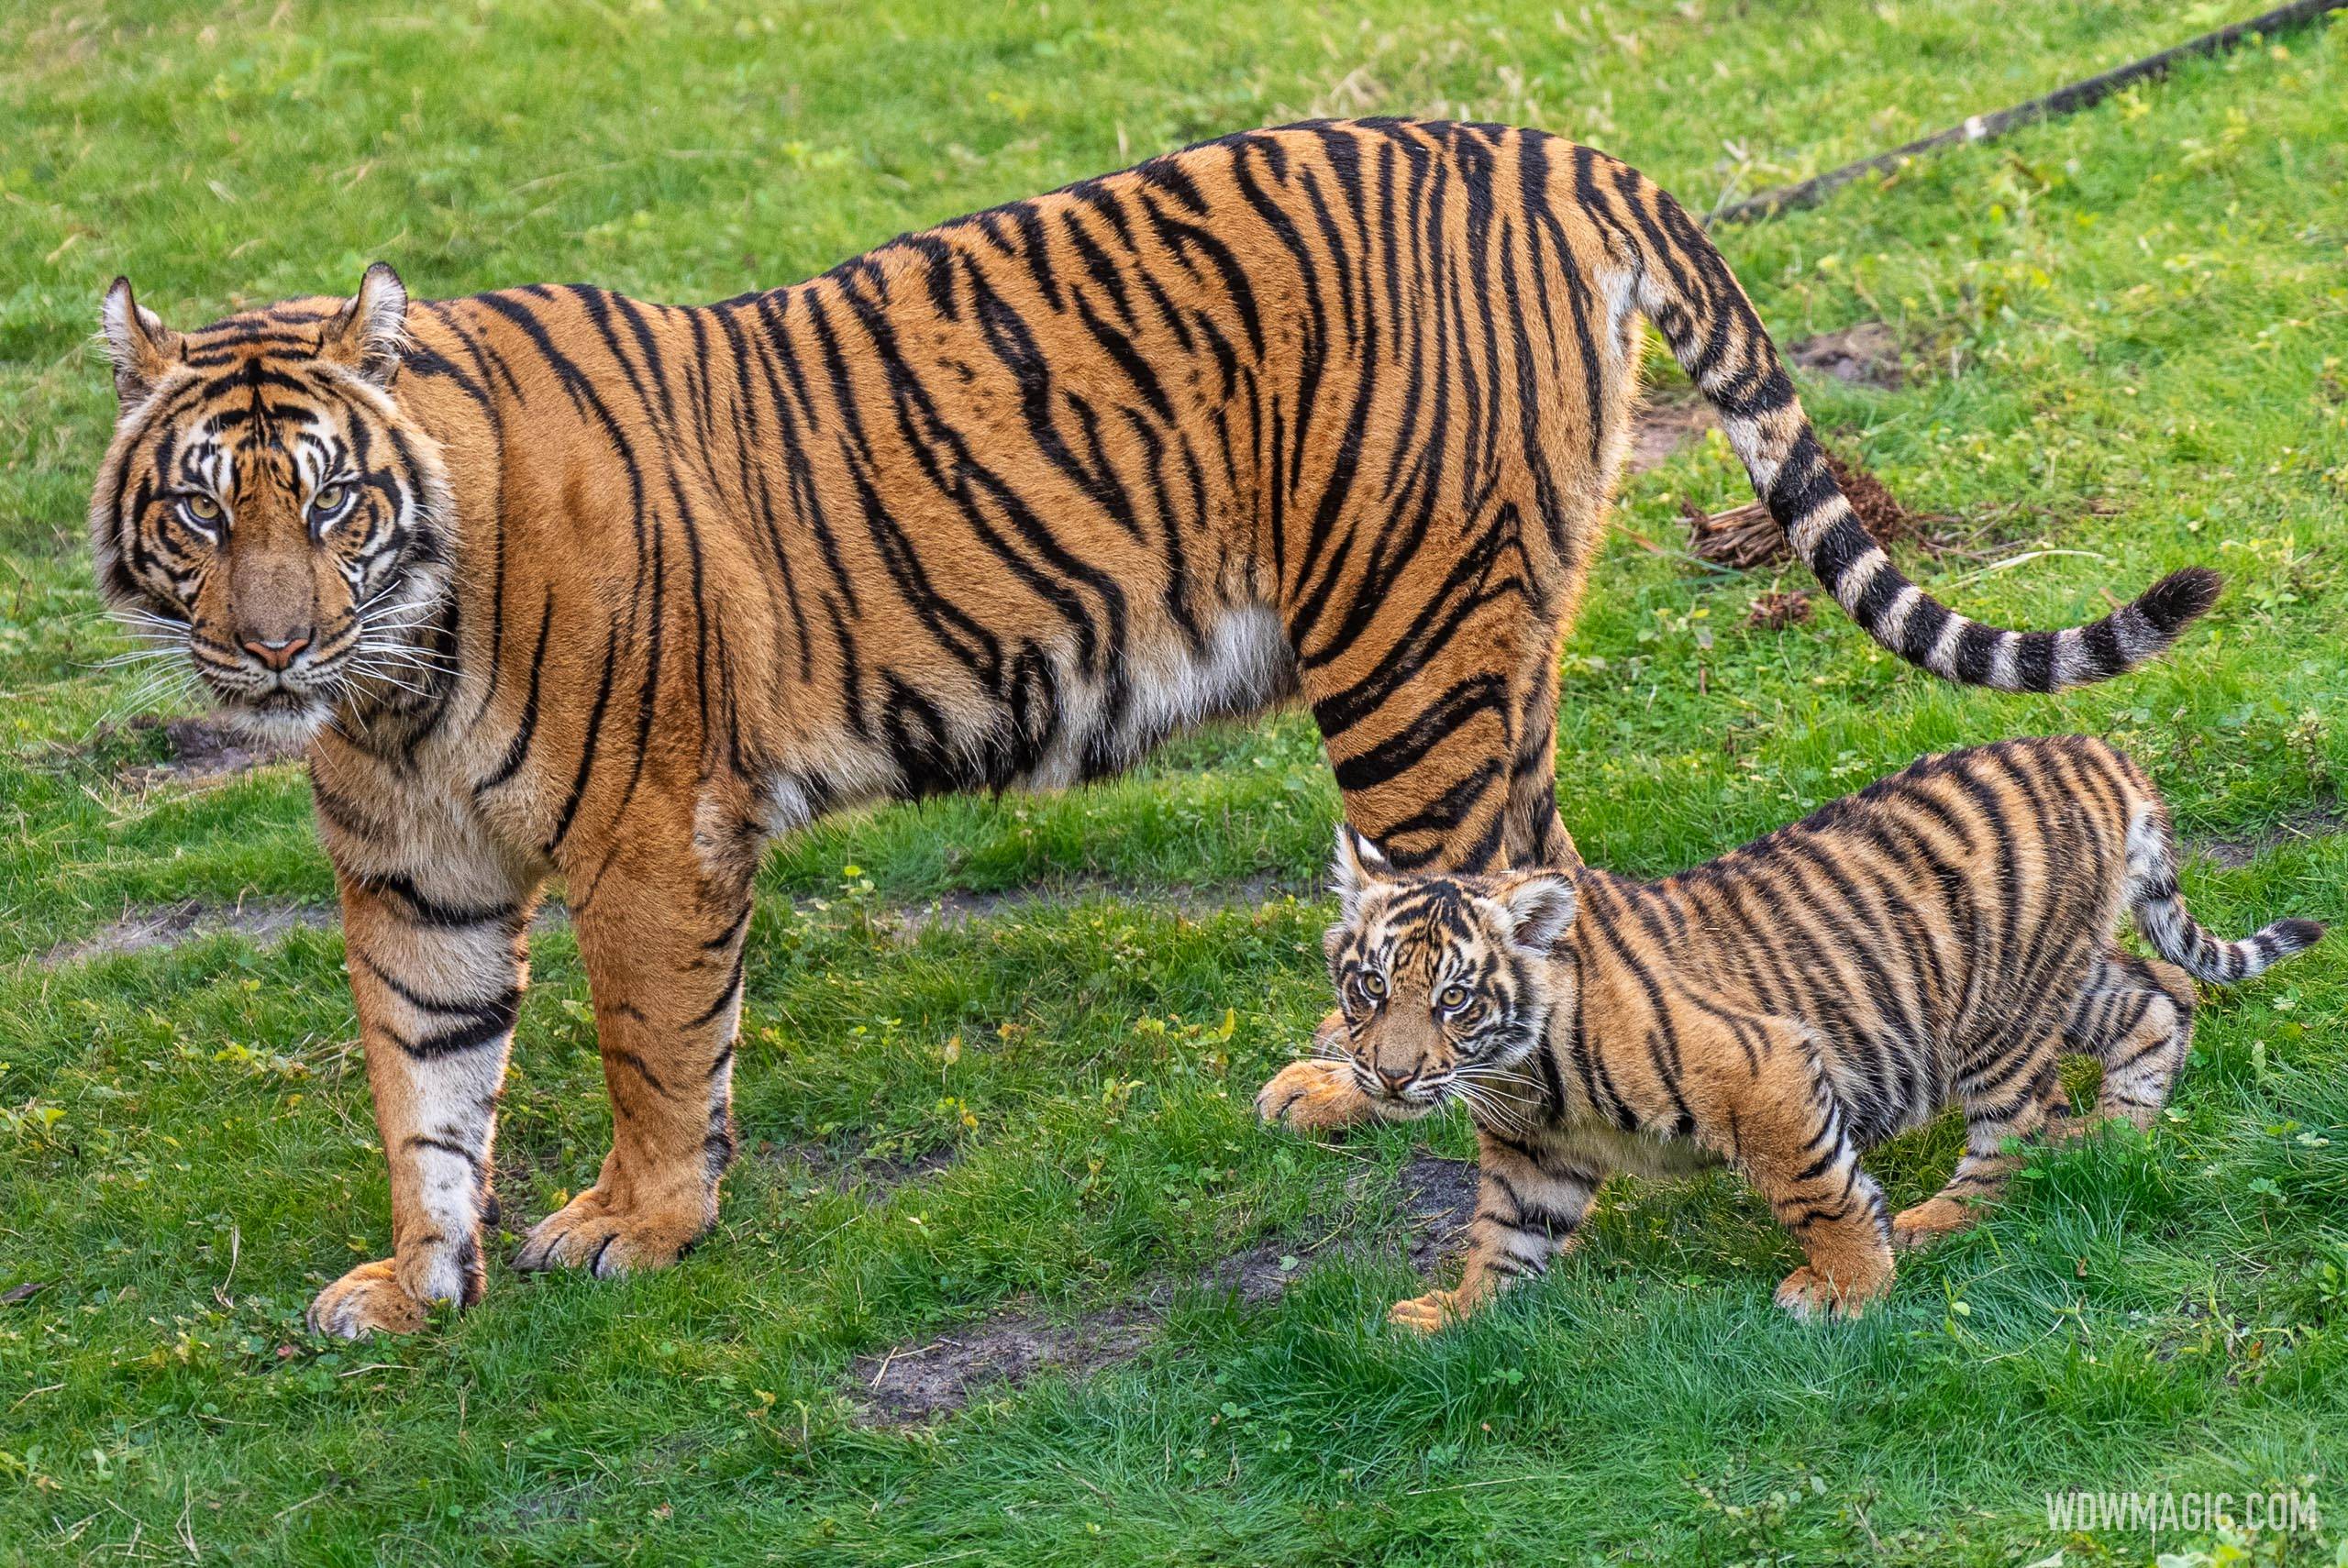
M925 1345L857 1357L852 1397L873 1425L911 1427L1050 1371L1082 1378L1132 1361L1155 1331L1158 1317L1139 1307L1054 1324L1033 1307L1014 1305Z

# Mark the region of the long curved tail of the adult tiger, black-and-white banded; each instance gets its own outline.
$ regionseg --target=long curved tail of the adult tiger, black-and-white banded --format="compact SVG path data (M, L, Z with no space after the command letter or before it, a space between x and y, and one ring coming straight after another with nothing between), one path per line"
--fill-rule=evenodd
M2008 631L1946 608L1907 580L1843 498L1794 383L1728 263L1667 192L1622 169L1615 237L1634 300L1688 380L1719 411L1728 446L1794 554L1867 636L1958 685L2054 692L2144 664L2217 601L2219 575L2186 568L2087 627Z

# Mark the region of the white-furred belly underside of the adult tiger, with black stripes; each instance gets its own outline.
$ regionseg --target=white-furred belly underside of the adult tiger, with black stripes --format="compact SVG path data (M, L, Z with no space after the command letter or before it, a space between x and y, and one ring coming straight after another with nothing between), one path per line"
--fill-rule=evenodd
M918 643L916 643L918 646ZM812 699L791 714L789 758L768 779L765 829L876 800L1040 791L1101 779L1212 718L1249 718L1296 692L1296 657L1268 606L1230 606L1195 641L1169 624L1094 660L1071 641L1005 638L984 671L880 655L864 671L862 723ZM796 709L796 711L794 711Z

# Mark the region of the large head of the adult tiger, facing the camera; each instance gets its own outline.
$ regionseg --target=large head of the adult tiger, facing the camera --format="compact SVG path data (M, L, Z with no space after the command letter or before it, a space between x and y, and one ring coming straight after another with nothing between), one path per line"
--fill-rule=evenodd
M448 587L439 446L392 394L409 296L291 300L178 333L106 291L120 411L89 498L99 589L232 718L308 739L357 692L423 688Z

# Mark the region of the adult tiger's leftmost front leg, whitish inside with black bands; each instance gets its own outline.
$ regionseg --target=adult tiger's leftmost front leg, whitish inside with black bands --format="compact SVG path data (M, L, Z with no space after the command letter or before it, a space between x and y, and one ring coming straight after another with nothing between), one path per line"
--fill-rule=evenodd
M521 1009L535 883L463 854L430 869L369 869L366 845L338 843L331 829L329 847L366 1082L392 1167L392 1256L319 1291L310 1329L409 1333L430 1303L481 1296L498 1089Z

